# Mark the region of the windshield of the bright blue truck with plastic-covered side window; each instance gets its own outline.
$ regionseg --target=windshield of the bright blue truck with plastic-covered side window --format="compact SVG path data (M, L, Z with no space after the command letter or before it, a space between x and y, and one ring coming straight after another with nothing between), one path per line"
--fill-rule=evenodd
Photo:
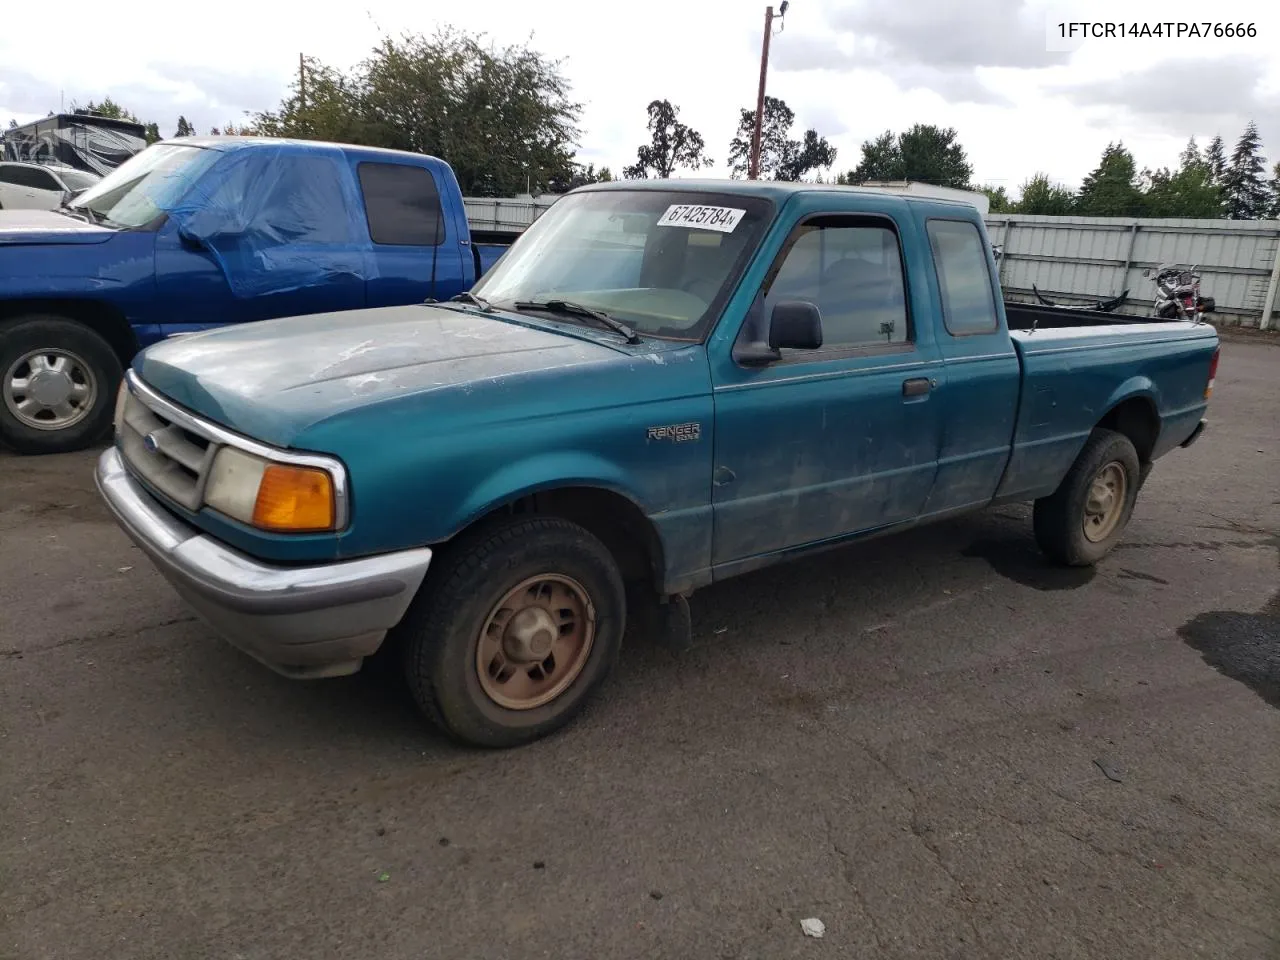
M173 209L218 152L156 143L132 156L67 206L111 227L146 227Z

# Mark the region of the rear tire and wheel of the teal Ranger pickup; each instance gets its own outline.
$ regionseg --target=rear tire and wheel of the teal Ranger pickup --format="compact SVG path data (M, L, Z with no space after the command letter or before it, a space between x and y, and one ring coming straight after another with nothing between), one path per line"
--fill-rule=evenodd
M1120 541L1140 485L1142 466L1129 438L1096 429L1057 490L1036 500L1036 543L1059 563L1093 566Z

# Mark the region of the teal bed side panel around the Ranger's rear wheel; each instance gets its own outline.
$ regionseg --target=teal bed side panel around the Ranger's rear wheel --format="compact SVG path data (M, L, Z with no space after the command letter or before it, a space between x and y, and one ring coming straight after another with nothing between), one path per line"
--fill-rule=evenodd
M1023 402L1000 500L1051 494L1093 428L1126 399L1144 398L1156 410L1153 460L1185 440L1208 406L1217 333L1207 324L1014 332L1012 339Z

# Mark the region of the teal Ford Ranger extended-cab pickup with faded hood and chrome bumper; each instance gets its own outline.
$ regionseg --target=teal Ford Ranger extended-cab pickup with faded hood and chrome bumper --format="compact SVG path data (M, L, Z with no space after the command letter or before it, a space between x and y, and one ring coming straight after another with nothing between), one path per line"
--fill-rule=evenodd
M689 594L745 571L1019 500L1098 562L1217 356L1208 325L1005 305L963 204L594 186L463 302L145 351L97 484L243 650L321 677L385 640L445 731L515 745L628 617L687 636Z

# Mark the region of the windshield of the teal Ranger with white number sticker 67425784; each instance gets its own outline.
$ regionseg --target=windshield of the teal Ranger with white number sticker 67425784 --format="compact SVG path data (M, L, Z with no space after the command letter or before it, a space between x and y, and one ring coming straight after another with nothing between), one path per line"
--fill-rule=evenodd
M771 214L768 201L731 193L572 193L472 293L500 310L570 301L644 335L700 340Z

